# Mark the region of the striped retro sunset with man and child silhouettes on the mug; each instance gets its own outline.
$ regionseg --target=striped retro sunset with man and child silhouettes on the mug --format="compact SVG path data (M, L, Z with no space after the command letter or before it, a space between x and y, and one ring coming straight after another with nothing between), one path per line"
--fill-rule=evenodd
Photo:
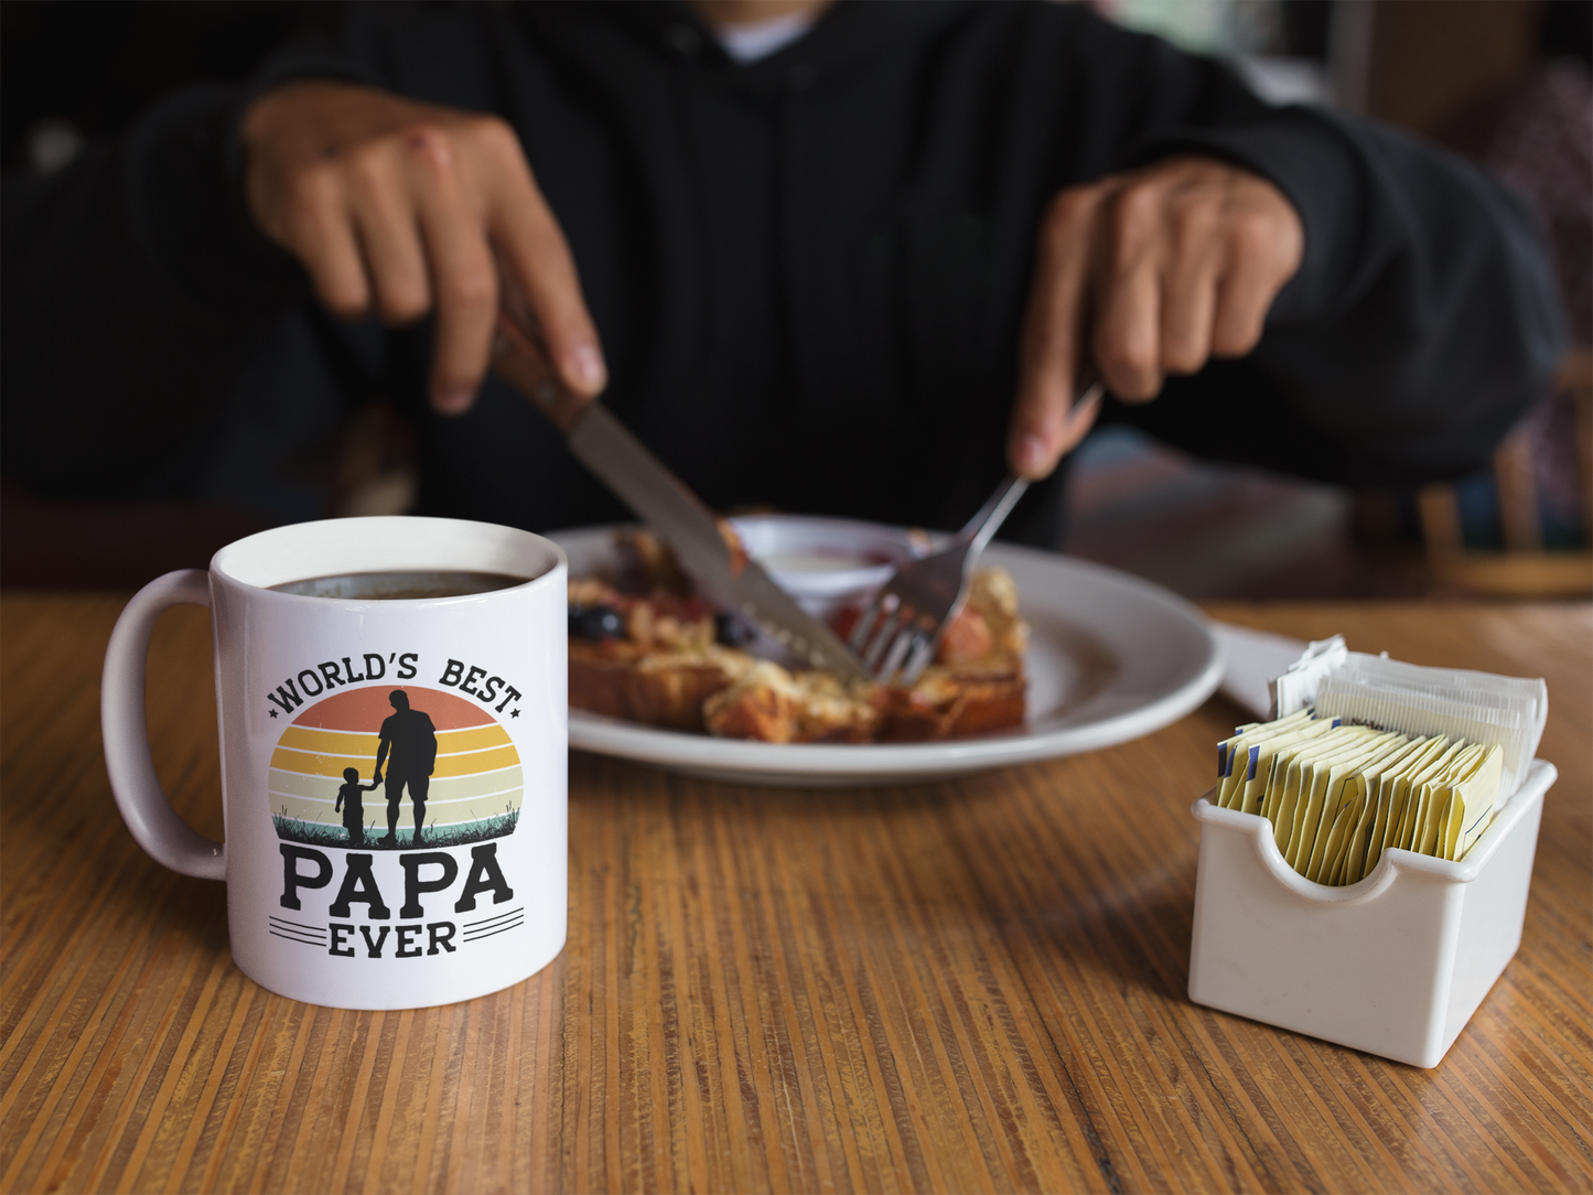
M508 731L473 701L368 685L284 728L268 787L280 838L401 851L513 833L524 774Z

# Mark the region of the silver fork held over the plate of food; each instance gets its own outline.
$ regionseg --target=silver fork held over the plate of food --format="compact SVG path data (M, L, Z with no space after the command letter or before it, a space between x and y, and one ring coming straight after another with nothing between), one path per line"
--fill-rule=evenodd
M1096 382L1080 397L1072 417L1093 419L1101 395L1102 386ZM969 599L980 553L1027 488L1027 481L1008 473L951 543L908 561L884 583L851 636L852 650L875 680L911 685L924 674L940 636Z

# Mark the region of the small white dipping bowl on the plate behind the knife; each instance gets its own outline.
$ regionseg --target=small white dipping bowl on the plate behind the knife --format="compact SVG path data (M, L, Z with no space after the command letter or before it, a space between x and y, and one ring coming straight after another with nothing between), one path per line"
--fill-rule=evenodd
M747 554L816 618L862 604L900 564L929 551L922 532L809 515L730 519Z

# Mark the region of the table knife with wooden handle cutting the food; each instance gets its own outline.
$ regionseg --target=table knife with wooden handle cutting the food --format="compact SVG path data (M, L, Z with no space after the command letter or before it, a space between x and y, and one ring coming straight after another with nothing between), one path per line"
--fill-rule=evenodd
M596 400L581 403L551 378L543 366L546 354L540 339L527 336L521 320L502 315L492 365L566 433L575 459L656 531L682 567L733 610L814 668L849 680L871 680L841 637L769 580L757 561L731 559L714 513L607 406Z

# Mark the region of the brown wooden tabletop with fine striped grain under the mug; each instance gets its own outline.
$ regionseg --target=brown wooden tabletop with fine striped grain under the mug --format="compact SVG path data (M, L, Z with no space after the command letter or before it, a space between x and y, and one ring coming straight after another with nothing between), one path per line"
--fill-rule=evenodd
M1149 739L863 792L577 755L570 940L470 1004L272 996L148 860L97 735L115 596L0 599L0 1192L1590 1190L1593 607L1212 607L1547 676L1521 953L1435 1071L1192 1005L1207 703ZM204 613L150 706L220 836Z

